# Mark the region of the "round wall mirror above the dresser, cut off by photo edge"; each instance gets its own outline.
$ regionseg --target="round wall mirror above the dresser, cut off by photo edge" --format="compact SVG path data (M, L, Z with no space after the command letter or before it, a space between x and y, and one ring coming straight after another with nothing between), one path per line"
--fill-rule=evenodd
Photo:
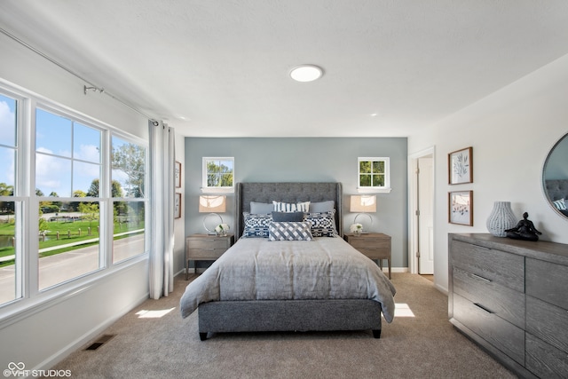
M542 187L552 208L568 218L568 134L548 153L542 169Z

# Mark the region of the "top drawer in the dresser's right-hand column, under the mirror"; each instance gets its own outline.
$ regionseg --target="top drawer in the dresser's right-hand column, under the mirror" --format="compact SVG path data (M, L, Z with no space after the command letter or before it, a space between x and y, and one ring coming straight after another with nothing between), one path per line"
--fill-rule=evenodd
M568 310L568 266L526 258L526 294Z

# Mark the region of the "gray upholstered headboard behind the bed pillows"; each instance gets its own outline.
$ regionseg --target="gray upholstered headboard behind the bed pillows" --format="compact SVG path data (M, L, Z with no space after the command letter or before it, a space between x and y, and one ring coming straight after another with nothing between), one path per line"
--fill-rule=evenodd
M235 241L244 229L243 212L250 211L250 201L335 201L335 227L343 236L341 183L237 183L235 189Z

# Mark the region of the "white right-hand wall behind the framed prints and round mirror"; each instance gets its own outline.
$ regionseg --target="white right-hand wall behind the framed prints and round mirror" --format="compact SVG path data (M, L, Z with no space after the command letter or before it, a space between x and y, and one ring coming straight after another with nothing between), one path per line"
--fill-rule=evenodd
M467 91L467 89L466 89ZM568 243L568 220L546 201L541 170L550 148L568 132L568 55L408 138L408 153L436 147L435 283L447 290L448 233L487 233L493 201L529 213L544 241ZM473 146L473 183L447 184L447 154ZM474 225L447 222L450 191L473 190Z

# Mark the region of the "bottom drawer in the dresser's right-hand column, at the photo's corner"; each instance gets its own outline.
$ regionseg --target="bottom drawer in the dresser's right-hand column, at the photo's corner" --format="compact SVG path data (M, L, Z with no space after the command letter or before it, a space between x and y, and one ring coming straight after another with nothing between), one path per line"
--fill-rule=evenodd
M568 354L526 334L525 367L541 378L568 378Z

